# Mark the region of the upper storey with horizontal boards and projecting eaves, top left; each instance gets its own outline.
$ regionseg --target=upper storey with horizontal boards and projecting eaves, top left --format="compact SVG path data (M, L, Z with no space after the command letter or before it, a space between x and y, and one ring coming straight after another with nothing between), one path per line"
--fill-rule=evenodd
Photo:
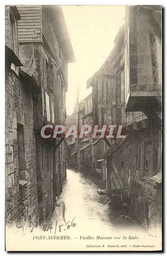
M67 62L75 62L75 56L61 6L18 5L21 19L18 21L18 41L42 42L43 36L53 55L59 56L59 48Z

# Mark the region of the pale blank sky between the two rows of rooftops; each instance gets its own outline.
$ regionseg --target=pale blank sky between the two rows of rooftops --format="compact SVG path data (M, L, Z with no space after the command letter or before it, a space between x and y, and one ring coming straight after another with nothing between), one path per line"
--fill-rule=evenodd
M68 64L67 115L77 100L91 93L86 81L98 71L113 47L114 37L124 24L125 6L62 6L76 63Z

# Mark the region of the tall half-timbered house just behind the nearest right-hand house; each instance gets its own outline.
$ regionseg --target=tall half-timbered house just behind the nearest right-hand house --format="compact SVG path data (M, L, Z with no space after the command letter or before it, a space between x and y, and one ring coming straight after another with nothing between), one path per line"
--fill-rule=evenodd
M121 74L124 57L124 34L122 26L114 39L114 46L102 67L87 81L86 88L92 87L93 125L122 124ZM120 140L120 139L117 139ZM112 138L98 136L92 144L92 172L96 171L106 179L106 161L101 155L114 143Z

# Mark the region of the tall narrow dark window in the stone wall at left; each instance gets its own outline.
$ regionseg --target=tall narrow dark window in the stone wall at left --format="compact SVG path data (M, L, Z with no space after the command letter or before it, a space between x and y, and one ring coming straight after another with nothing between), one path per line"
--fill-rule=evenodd
M18 143L18 172L19 178L23 179L22 177L22 170L25 171L26 169L26 160L25 160L25 134L24 134L24 127L22 124L17 123L17 143Z

